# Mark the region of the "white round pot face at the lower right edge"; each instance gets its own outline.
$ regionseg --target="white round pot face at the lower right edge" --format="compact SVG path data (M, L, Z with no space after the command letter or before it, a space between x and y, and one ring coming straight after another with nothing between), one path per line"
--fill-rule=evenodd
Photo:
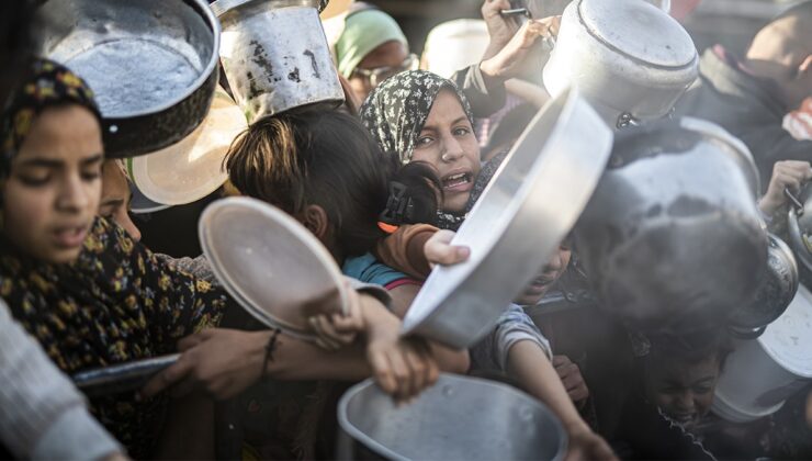
M812 378L812 293L798 288L787 311L758 337L764 350L785 370Z

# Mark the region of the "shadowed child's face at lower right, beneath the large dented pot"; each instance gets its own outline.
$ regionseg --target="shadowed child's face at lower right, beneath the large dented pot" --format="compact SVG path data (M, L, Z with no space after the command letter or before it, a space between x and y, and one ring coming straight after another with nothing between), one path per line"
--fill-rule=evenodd
M710 411L719 373L715 356L695 363L661 360L646 370L646 394L668 416L690 427Z

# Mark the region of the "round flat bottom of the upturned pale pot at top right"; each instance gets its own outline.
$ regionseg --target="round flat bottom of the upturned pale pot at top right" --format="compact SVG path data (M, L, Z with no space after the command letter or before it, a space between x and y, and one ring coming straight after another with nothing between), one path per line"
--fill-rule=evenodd
M644 1L580 0L578 16L589 34L609 48L644 64L690 65L697 49L688 32L668 13Z

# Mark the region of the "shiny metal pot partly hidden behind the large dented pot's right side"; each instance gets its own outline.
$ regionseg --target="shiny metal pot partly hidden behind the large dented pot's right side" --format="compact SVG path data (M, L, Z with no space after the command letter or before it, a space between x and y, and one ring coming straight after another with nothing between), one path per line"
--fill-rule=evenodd
M792 250L775 235L768 236L767 265L755 301L737 308L730 318L735 336L764 331L770 322L780 317L796 297L799 285L798 263Z

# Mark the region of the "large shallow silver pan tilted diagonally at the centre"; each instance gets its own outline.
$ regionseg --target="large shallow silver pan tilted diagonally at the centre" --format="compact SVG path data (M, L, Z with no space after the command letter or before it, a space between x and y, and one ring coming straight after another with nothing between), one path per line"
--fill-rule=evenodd
M404 319L419 334L467 348L494 327L569 233L609 159L612 132L572 89L533 119L452 244L470 259L438 267Z

